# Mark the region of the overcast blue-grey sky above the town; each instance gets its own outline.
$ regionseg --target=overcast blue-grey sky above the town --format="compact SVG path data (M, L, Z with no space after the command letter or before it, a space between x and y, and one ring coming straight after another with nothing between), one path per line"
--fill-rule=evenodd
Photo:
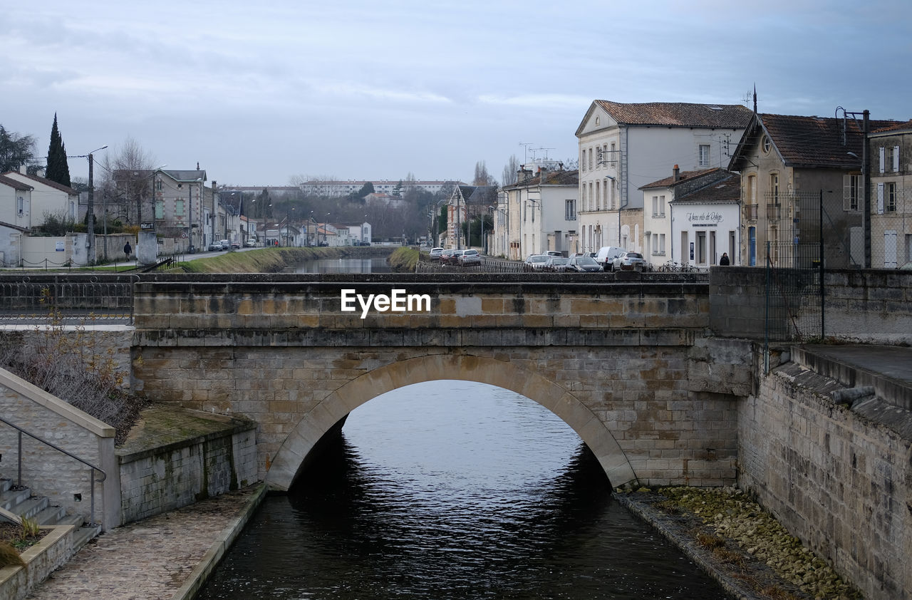
M0 124L210 182L501 179L596 98L912 118L909 0L5 3ZM100 153L99 153L100 154ZM70 160L74 177L86 160Z

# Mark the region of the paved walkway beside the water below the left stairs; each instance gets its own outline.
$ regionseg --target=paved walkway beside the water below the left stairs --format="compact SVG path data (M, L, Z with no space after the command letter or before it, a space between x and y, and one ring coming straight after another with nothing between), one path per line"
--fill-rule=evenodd
M103 533L27 597L192 598L263 493L262 486L252 486Z

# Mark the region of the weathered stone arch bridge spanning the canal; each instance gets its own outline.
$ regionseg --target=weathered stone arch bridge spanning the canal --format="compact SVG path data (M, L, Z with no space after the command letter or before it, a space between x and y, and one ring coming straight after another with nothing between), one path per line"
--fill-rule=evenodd
M276 490L351 410L434 379L542 404L614 486L735 480L735 400L755 353L712 336L706 282L159 274L136 284L134 311L135 388L254 419Z

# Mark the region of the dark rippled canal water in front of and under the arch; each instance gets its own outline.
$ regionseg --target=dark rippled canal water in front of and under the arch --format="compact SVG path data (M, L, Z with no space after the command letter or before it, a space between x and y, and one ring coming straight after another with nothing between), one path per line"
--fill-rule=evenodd
M198 597L727 596L612 500L550 411L434 381L354 410L296 489L264 501Z

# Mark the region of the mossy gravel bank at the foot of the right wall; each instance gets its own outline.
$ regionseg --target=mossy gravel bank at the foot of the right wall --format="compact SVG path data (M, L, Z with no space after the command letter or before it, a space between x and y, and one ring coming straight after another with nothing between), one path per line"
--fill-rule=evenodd
M616 498L737 598L862 597L736 488L640 488Z

